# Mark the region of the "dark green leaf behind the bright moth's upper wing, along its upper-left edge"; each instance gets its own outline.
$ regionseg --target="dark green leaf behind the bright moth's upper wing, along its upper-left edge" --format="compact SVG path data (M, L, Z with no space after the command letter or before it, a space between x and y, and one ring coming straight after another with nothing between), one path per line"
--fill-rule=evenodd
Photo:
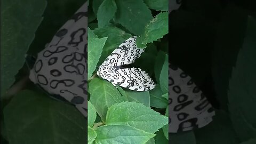
M120 44L122 44L126 39L132 37L132 35L125 33L125 31L122 29L110 26L94 29L93 33L99 36L99 38L108 37L102 50L99 65L101 65L101 63L108 57L108 55L113 52Z

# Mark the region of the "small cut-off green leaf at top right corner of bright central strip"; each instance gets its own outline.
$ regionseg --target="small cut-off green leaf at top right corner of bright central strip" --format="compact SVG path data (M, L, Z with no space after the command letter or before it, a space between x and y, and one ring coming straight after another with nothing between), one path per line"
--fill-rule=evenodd
M168 0L144 0L149 9L157 11L168 11Z

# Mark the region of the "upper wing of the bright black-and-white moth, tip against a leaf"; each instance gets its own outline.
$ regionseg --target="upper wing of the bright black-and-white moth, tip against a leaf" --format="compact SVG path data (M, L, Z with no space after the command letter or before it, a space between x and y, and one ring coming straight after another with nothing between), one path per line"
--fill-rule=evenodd
M133 63L139 58L144 49L140 49L136 44L136 36L130 37L120 44L103 63L110 63L113 66L122 66ZM102 64L103 64L102 63Z

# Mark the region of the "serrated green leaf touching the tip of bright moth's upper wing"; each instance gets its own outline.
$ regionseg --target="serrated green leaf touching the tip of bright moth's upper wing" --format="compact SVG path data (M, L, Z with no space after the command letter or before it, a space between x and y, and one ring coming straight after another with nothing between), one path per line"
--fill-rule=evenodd
M145 47L147 43L152 43L165 34L168 34L168 12L161 12L147 24L143 35L137 38L137 46Z

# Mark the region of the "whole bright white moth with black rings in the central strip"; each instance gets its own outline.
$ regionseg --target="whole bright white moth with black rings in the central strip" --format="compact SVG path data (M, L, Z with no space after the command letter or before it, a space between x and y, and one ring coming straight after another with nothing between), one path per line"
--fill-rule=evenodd
M145 51L136 44L136 36L130 37L118 46L100 65L97 75L111 82L134 91L148 91L155 87L151 77L140 68L123 68L133 63Z

